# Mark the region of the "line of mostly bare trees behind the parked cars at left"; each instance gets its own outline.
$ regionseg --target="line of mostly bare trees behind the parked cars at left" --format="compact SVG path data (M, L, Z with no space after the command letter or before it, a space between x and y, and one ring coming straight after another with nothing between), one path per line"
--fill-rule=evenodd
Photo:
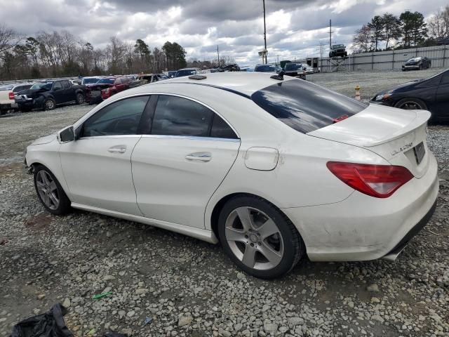
M133 44L111 37L107 46L95 48L66 30L22 37L0 26L0 79L4 80L159 73L185 67L185 57L185 49L176 42L151 49L142 39Z

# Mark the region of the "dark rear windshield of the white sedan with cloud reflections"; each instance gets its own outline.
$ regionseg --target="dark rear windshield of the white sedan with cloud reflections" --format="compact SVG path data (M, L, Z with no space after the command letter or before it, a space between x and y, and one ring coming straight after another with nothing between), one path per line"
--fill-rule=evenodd
M283 123L301 133L318 130L338 117L366 109L360 103L302 79L280 81L256 91L251 99Z

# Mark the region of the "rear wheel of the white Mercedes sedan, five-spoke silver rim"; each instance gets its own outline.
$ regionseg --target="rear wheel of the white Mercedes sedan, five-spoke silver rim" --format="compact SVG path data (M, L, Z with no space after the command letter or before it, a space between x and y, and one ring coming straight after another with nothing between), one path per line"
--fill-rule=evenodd
M229 258L244 272L261 279L286 274L305 253L295 225L259 197L227 201L218 218L218 234Z

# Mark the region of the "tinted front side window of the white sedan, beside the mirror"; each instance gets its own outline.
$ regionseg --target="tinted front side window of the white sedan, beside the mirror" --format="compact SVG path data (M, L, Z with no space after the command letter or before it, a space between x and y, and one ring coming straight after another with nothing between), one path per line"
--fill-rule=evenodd
M136 96L114 102L84 122L82 137L135 135L149 96Z

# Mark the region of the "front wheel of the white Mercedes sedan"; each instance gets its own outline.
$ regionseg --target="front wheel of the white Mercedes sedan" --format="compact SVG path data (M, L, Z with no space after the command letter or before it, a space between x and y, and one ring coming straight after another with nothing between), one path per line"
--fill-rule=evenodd
M67 194L46 166L34 166L34 188L39 201L50 213L61 216L70 211L70 200Z

